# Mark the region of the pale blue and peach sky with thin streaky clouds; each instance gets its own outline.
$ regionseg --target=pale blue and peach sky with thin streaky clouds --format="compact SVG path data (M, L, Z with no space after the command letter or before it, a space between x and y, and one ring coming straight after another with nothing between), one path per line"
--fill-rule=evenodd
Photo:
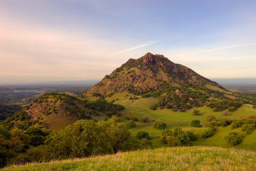
M255 78L255 9L255 0L0 0L0 84L100 80L147 52L207 78Z

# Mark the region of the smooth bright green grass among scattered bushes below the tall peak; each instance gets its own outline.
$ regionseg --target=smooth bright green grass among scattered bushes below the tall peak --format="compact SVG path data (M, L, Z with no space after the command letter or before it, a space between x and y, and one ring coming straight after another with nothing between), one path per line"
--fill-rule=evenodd
M241 128L237 128L236 130L232 130L230 126L225 128L218 127L216 133L211 138L200 138L200 133L202 133L206 128L204 127L207 123L206 118L208 115L214 115L216 119L221 120L223 118L231 118L231 119L239 119L241 115L256 115L256 109L252 107L252 105L245 104L240 107L238 110L234 112L228 112L230 115L223 115L224 112L213 112L213 110L209 107L200 107L197 108L200 110L200 115L193 115L193 109L188 110L186 112L173 112L171 109L157 109L151 110L149 107L153 103L156 102L157 98L141 98L138 97L138 100L129 100L130 97L133 97L134 94L131 93L115 93L113 96L106 98L108 101L116 100L116 104L123 105L125 107L124 115L122 116L122 121L127 122L126 117L132 118L136 117L139 121L136 121L136 127L132 128L130 131L133 136L138 133L138 131L147 131L152 138L152 142L155 147L163 147L165 144L161 142L161 131L157 130L153 127L153 123L141 123L141 117L148 117L149 120L161 119L164 123L167 124L167 128L175 128L180 127L184 131L191 131L196 135L196 141L193 142L194 145L213 145L218 147L234 147L228 144L224 138L230 131L242 132ZM201 128L193 128L190 126L191 121L193 119L199 119L201 121ZM256 131L253 131L252 134L246 135L243 142L239 145L236 145L236 148L244 148L250 150L256 150L255 145L256 140L255 137Z

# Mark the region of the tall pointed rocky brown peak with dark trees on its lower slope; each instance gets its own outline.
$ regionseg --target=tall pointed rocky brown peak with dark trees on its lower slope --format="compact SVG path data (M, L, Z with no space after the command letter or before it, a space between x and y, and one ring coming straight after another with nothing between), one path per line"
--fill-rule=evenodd
M243 103L220 84L186 66L173 63L163 55L150 53L139 59L129 59L84 94L108 98L124 92L140 95L141 98L158 98L156 103L148 106L152 110L172 108L185 112L204 105L218 107L217 111L227 108L236 110ZM131 97L131 100L136 100L136 97ZM220 108L223 106L221 103L225 107Z

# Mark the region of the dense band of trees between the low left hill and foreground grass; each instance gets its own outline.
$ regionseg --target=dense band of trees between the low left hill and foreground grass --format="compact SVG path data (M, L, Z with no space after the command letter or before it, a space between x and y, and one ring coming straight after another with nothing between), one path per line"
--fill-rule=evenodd
M11 163L83 158L118 151L152 148L146 138L131 136L117 117L108 121L79 120L60 132L30 127L8 131L0 127L0 168Z

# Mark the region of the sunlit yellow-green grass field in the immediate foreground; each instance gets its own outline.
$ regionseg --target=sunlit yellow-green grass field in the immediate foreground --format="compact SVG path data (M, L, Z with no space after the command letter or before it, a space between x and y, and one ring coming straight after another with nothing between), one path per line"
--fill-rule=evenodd
M220 147L167 147L3 170L256 170L256 152Z

